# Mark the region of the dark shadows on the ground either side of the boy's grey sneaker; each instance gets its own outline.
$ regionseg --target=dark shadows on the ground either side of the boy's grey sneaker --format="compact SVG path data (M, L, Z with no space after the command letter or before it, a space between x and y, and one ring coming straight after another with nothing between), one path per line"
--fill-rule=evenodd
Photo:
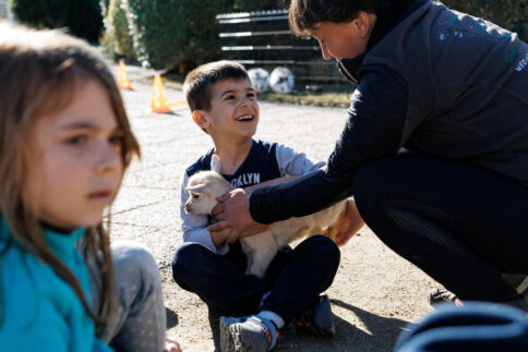
M381 317L339 300L332 300L332 303L352 312L368 331L357 328L336 315L334 315L336 336L331 339L315 337L289 324L280 330L279 343L275 351L392 351L398 335L408 325L408 321ZM220 351L219 317L218 311L208 309L215 351Z

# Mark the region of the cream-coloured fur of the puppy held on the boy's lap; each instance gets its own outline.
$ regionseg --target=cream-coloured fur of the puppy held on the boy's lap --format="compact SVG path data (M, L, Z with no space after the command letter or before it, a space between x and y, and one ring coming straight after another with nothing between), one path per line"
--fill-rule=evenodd
M221 177L220 161L214 155L211 171L200 171L189 179L185 211L209 215L217 204L216 197L231 190L233 187ZM327 229L328 236L334 240L345 208L346 201L343 201L309 216L274 222L267 231L255 235L240 238L242 250L248 256L245 274L262 278L277 251L297 239L322 233L323 229Z

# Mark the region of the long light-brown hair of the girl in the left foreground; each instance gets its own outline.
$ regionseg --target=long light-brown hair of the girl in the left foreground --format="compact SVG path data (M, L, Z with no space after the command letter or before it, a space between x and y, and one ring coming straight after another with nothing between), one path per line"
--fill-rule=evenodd
M25 251L47 263L72 287L101 331L112 313L115 294L108 233L98 224L86 229L83 236L81 253L99 290L99 305L93 312L76 277L47 247L33 201L24 196L31 168L26 145L35 122L45 113L65 108L75 88L87 80L98 81L110 98L117 124L124 133L121 157L125 169L134 155L140 156L140 146L113 76L98 52L58 31L33 31L0 22L0 216ZM91 263L95 263L93 268Z

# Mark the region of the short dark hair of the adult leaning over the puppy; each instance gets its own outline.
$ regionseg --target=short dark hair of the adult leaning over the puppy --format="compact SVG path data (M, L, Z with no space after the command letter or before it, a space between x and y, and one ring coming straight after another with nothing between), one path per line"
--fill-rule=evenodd
M359 11L377 14L384 0L291 0L289 24L293 34L305 35L323 22L348 23ZM386 1L386 0L385 0Z

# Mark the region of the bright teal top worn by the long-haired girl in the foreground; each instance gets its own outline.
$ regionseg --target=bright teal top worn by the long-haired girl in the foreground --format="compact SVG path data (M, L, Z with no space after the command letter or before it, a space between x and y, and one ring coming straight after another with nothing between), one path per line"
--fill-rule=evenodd
M75 247L84 231L45 231L45 235L49 248L77 277L91 302L88 270ZM73 289L49 265L21 250L1 218L0 253L0 350L112 351L95 338L95 325Z

